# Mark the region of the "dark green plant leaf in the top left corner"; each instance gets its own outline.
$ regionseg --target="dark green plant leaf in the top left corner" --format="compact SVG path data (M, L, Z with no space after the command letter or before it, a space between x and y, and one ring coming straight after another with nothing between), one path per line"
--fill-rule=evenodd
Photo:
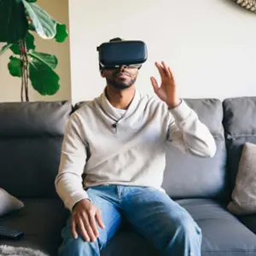
M0 42L15 43L25 38L27 27L21 0L0 0Z

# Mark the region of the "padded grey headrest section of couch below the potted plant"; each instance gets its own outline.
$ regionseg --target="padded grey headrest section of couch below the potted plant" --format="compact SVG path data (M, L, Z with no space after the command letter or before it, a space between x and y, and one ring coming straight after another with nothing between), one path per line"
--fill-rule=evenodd
M0 137L63 136L70 102L0 103Z

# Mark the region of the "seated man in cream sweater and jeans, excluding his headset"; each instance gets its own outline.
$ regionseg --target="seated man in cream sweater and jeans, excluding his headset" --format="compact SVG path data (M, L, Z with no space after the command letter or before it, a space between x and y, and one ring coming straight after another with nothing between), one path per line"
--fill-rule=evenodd
M100 255L123 218L161 255L201 255L201 229L161 189L165 147L172 143L183 153L212 157L216 144L177 96L171 68L155 66L161 84L151 83L160 99L136 90L139 67L103 68L104 92L68 121L55 180L72 212L62 230L61 256Z

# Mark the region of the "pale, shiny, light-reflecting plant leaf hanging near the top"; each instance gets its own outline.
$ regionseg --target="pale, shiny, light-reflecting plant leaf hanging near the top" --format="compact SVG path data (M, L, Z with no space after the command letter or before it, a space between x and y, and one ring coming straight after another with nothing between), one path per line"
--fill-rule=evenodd
M41 9L36 3L28 3L26 0L21 0L24 4L26 15L32 20L32 25L41 38L55 38L56 21L48 15L44 9Z

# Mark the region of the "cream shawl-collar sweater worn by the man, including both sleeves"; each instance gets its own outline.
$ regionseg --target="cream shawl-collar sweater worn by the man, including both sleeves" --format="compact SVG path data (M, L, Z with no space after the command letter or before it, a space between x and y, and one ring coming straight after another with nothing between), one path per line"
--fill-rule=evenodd
M102 93L74 112L67 123L56 191L72 210L75 203L88 198L84 188L91 186L161 189L166 143L201 157L212 157L216 151L207 126L184 101L168 110L165 102L136 91L122 115Z

